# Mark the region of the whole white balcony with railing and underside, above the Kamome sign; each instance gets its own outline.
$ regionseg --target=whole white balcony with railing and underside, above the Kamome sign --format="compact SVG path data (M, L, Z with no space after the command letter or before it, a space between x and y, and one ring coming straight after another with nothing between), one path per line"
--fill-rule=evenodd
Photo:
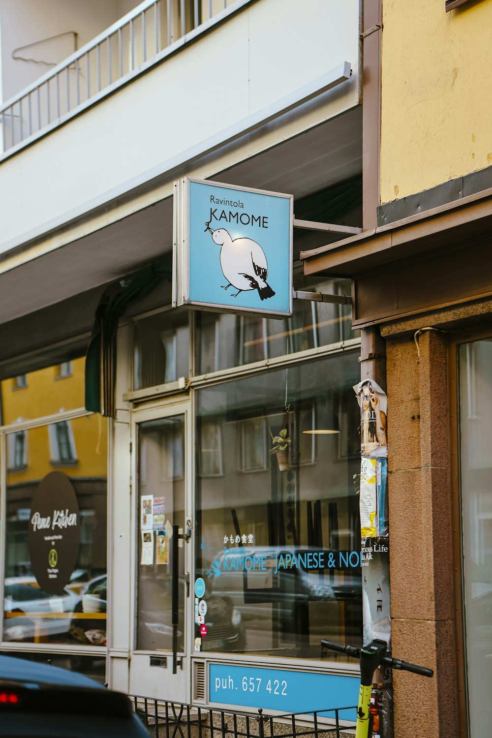
M178 173L304 196L360 171L358 0L219 5L146 1L4 103L0 283L66 259L24 313L162 255Z

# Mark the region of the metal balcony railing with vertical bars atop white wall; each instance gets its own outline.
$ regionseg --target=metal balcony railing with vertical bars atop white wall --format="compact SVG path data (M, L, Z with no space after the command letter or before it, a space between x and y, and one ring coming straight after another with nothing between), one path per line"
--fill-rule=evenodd
M251 0L146 0L0 107L15 151L113 92Z

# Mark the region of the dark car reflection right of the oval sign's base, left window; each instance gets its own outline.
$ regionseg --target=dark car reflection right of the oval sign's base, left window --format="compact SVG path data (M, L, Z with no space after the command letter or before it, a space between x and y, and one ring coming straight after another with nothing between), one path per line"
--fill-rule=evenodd
M108 599L108 577L103 574L91 579L80 591L80 599L74 607L70 624L70 635L76 641L104 646L106 641L106 618ZM93 613L93 618L80 618L79 614Z

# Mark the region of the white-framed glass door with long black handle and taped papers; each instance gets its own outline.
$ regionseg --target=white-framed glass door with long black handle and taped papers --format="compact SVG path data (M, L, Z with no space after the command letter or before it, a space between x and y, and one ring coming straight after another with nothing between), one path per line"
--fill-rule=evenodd
M191 517L188 407L139 416L131 693L187 700Z

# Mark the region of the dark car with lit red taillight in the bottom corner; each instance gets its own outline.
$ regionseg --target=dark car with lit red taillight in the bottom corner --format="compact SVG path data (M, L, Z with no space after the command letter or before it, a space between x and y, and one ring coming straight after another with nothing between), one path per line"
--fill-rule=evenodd
M81 674L0 655L0 735L148 738L125 694Z

